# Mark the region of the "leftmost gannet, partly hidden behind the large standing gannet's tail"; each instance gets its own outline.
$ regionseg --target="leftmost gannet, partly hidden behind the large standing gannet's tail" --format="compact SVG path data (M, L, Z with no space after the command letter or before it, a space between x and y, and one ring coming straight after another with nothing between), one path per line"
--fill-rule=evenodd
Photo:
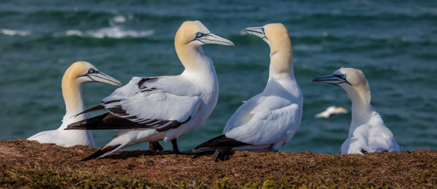
M82 99L82 87L85 82L104 82L121 86L121 82L98 71L88 62L75 62L65 71L62 77L62 96L65 101L65 116L62 118L62 125L58 129L40 132L27 140L40 143L55 143L70 147L74 145L89 145L94 147L94 139L89 131L65 131L70 123L87 118L86 114L75 116L85 110Z

